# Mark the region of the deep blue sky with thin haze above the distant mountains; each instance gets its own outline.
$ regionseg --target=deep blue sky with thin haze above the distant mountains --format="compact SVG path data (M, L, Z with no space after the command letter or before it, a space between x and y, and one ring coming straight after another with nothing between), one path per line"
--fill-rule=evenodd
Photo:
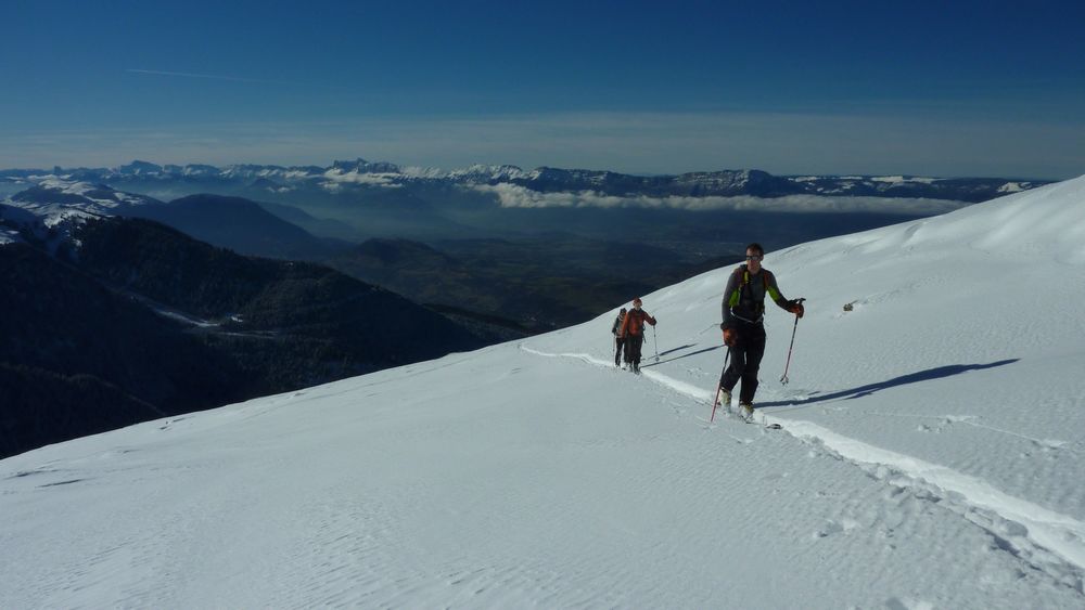
M2 14L3 168L1085 173L1081 1L4 0Z

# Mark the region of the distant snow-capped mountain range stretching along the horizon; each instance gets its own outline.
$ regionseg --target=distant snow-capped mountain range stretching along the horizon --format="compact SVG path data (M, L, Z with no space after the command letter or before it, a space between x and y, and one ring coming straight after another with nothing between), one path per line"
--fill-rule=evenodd
M156 165L136 160L116 168L0 170L0 180L26 181L42 176L111 185L174 184L184 189L253 189L270 194L322 190L328 193L404 185L510 184L540 193L592 191L610 196L781 197L787 195L924 197L976 203L1049 183L1000 178L928 178L909 176L773 176L748 170L631 176L604 170L476 165L465 169L400 167L386 161L339 160L328 167L233 165Z

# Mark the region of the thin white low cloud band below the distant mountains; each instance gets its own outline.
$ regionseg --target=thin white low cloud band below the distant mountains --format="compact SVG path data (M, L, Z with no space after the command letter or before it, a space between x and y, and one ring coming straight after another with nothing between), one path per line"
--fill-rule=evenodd
M515 184L475 185L474 191L497 197L507 208L649 208L689 211L770 211L805 213L880 212L916 213L933 216L949 212L969 204L944 199L898 197L822 197L817 195L788 195L763 198L742 195L738 197L618 197L593 191L576 193L539 193Z

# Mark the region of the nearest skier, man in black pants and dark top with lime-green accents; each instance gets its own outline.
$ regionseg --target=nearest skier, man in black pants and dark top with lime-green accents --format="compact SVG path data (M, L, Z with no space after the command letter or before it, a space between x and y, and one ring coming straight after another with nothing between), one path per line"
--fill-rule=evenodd
M719 327L728 347L730 365L719 378L719 404L730 410L731 390L742 381L739 410L746 420L753 418L753 397L757 392L757 369L765 355L765 296L786 311L802 317L802 299L788 300L780 294L776 276L761 267L765 248L761 244L746 246L746 262L731 272L724 289L723 316Z

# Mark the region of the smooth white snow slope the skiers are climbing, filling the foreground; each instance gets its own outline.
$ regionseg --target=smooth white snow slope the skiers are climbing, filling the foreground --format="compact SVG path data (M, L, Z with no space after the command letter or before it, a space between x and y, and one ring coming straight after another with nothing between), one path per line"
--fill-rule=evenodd
M641 376L609 312L11 457L0 607L1083 608L1083 265L1085 178L770 252L782 430L720 269Z

